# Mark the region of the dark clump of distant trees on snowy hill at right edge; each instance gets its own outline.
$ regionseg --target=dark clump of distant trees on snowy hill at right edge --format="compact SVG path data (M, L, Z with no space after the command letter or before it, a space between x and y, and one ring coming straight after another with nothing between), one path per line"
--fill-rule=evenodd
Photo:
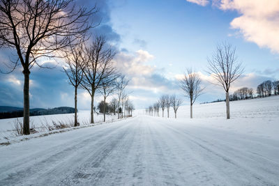
M272 91L274 95L279 95L279 81L271 82L271 80L267 80L257 86L257 95L259 98L271 96Z

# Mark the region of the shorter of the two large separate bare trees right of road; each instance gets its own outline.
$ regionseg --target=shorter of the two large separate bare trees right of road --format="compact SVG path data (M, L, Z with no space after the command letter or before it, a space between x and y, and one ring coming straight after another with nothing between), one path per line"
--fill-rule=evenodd
M180 81L180 87L186 97L190 99L190 118L193 118L193 104L204 90L204 88L200 87L200 84L201 79L199 75L191 69L185 72L183 79Z

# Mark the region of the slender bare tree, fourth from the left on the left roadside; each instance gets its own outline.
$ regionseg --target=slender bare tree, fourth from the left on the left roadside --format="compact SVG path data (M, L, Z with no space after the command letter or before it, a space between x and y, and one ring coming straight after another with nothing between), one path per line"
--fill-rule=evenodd
M118 74L114 72L110 72L110 75L106 75L105 78L102 79L100 82L100 88L98 88L98 92L103 95L104 98L104 107L103 107L103 114L104 114L104 122L105 122L105 101L107 97L112 95L116 91L116 82Z

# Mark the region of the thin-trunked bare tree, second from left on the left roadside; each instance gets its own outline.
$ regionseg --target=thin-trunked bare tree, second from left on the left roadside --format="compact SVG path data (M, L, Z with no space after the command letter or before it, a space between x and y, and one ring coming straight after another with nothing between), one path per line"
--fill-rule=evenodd
M67 66L63 68L69 84L75 87L75 127L77 124L77 88L83 78L84 69L84 47L83 45L70 46L70 54L66 55Z

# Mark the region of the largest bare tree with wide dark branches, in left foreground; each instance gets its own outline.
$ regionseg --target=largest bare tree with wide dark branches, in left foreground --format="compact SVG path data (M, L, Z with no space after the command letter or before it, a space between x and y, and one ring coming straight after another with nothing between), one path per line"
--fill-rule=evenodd
M57 52L74 45L76 38L84 37L91 28L89 16L95 13L77 9L73 1L64 0L1 0L0 47L15 49L16 61L11 71L21 64L24 74L23 134L29 131L29 75L40 57L56 57ZM10 71L10 72L11 72Z

